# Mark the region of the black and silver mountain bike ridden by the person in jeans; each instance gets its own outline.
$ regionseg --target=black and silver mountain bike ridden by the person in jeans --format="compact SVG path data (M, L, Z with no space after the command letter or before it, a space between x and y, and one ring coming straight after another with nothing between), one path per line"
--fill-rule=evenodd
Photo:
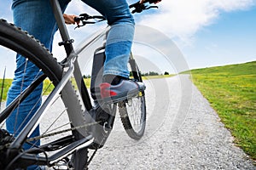
M61 62L57 62L53 54L50 54L43 44L28 35L26 31L9 24L6 20L0 20L0 45L22 54L27 61L29 60L37 65L40 71L44 73L38 73L39 76L35 77L32 84L0 113L0 169L23 169L31 165L57 168L56 166L64 164L70 169L87 169L96 154L96 150L102 148L108 139L108 135L113 128L117 108L119 108L125 131L131 139L141 139L145 131L146 103L144 90L138 92L136 96L120 101L118 104L109 104L99 99L98 85L101 82L101 68L104 62L103 42L102 47L97 48L94 54L90 82L90 93L94 94L93 99L90 99L90 93L84 84L80 70L79 59L81 56L79 56L79 53L88 50L86 48L91 44L102 41L102 37L108 35L109 27L90 37L83 48L74 50L73 40L68 35L58 1L51 0L50 2L62 37L62 42L59 45L64 46L67 54L67 57ZM130 8L135 8L132 13L140 13L145 9L155 8L155 6L134 3ZM96 23L88 21L90 19L105 20L102 16L90 16L88 14L81 14L77 20L82 22L81 26ZM97 62L95 62L96 59ZM131 66L131 78L134 81L143 82L132 54L129 64ZM3 129L6 118L19 107L20 103L39 84L47 79L50 80L54 88L47 95L44 103L16 137L9 134ZM42 95L44 95L44 92ZM70 127L64 130L51 129L52 124L56 122L54 121L49 125L47 131L40 136L32 139L28 138L56 99L60 99L67 108L60 115L67 114L69 119L67 124ZM96 104L93 105L93 102ZM134 114L137 117L131 118L131 114L133 114L131 111L137 111ZM132 122L133 119L135 122ZM52 130L55 130L55 132L52 132ZM66 134L67 132L69 133ZM52 138L52 136L58 134L65 134L65 136L59 139L54 138L49 143L34 146L29 150L22 150L22 145L25 143L30 144L32 140ZM90 149L95 151L89 158L88 152Z

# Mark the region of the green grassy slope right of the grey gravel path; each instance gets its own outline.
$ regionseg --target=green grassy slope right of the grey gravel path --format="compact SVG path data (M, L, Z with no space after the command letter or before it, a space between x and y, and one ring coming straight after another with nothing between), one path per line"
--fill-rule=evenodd
M256 61L191 73L195 86L218 112L236 144L256 160Z

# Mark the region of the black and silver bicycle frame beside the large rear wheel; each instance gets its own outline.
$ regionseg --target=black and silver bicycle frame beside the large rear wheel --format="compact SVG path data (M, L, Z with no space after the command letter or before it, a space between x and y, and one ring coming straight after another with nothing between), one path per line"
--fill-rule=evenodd
M62 16L60 4L58 0L50 0L52 10L55 15L55 20L57 22L57 26L59 27L59 31L61 33L62 38L62 44L64 45L67 58L61 61L61 65L63 65L63 77L61 78L61 82L55 87L53 92L49 94L49 97L45 100L44 104L40 106L38 111L32 116L32 119L26 124L26 127L22 129L20 134L15 138L15 140L10 144L9 146L9 153L11 153L9 156L17 156L17 153L19 153L19 150L21 146L25 143L26 137L30 135L30 133L33 132L34 128L38 126L38 123L40 122L41 118L44 116L44 113L48 110L49 105L53 104L55 99L61 94L61 98L63 100L64 105L66 105L67 108L67 115L69 116L69 119L72 122L73 127L80 126L81 124L84 124L83 119L83 112L79 107L76 107L76 105L79 103L78 99L70 100L68 99L69 96L73 95L73 92L70 92L69 88L72 86L71 82L69 82L71 77L74 77L74 80L78 86L80 97L83 101L85 113L89 117L90 112L94 111L91 101L90 101L90 95L88 93L87 88L85 87L84 80L81 74L81 71L79 69L79 63L78 63L78 54L75 53L73 50L73 44L72 40L70 40L67 27L65 25L65 21ZM105 31L102 31L96 37L92 37L87 44L89 45L91 42L96 41L97 38L102 37L102 35L105 35L108 32L108 29ZM84 46L86 47L86 45ZM78 51L83 50L80 48ZM32 86L36 86L40 82L42 82L43 77L39 77L36 81L32 83ZM27 90L24 91L25 95L26 93L29 94ZM23 95L20 97L23 98ZM14 102L15 103L15 102ZM7 108L8 109L8 108ZM79 130L78 130L79 131ZM93 136L91 134L88 134L84 130L80 130L79 132L76 132L76 130L73 131L73 136L75 138L75 141L73 141L73 136L67 136L63 139L63 141L56 140L52 143L60 143L64 144L67 143L64 149L58 151L53 156L50 157L43 157L38 156L35 157L34 153L39 153L38 150L27 150L27 152L17 156L20 160L26 160L27 165L32 164L38 164L38 165L45 165L45 164L51 164L55 161L61 160L63 157L69 155L74 150L79 150L79 148L88 147L90 144L93 143ZM50 143L51 144L51 143ZM45 144L46 145L46 144ZM43 149L47 150L47 147ZM41 151L42 152L42 151ZM31 154L32 153L32 154ZM16 157L15 157L16 158ZM23 161L22 161L23 162Z

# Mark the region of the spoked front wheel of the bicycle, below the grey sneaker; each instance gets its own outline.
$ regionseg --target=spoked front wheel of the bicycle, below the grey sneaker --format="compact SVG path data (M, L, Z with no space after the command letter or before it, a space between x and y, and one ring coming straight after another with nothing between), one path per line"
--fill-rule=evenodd
M143 82L134 59L130 60L130 65L134 81ZM145 91L131 99L119 102L119 114L128 136L131 139L141 139L146 127Z

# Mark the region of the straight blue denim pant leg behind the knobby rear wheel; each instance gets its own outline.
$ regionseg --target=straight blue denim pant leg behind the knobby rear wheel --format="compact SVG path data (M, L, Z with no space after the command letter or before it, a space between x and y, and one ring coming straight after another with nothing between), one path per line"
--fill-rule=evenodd
M69 1L61 0L60 2L61 7L64 9ZM44 43L46 48L51 50L56 26L49 0L13 0L12 9L15 25L21 27L22 30L28 31L30 35L36 37L40 42ZM9 88L7 105L20 94L20 86L25 89L40 74L37 66L26 61L20 54L17 54L15 78ZM20 126L24 127L29 118L38 110L38 107L41 105L42 88L43 84L36 88L21 103L19 108L8 117L6 124L9 133L14 133L15 136L20 133ZM32 133L32 136L37 135L39 135L39 127ZM36 142L36 144L38 145L39 142ZM24 144L25 150L30 147L30 144Z

